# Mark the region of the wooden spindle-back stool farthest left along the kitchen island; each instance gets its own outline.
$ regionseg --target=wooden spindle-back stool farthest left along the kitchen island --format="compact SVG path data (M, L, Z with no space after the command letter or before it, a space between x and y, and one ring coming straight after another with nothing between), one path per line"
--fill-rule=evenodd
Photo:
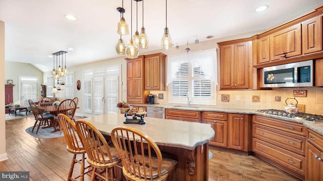
M84 149L81 140L79 139L77 130L76 130L76 126L74 121L72 121L69 117L67 117L64 114L59 114L58 115L58 122L60 124L60 127L63 130L64 136L65 136L65 140L67 143L67 151L70 153L73 153L73 159L71 162L71 167L70 167L70 171L69 174L67 176L67 180L76 180L77 178L80 178L80 181L84 180L84 174L90 172L91 170L87 170L86 172L85 169L89 168L90 165L85 166L85 153L86 150ZM76 156L78 154L82 155L81 159L77 159ZM75 163L79 163L81 164L81 173L79 175L77 175L76 177L72 177L73 174L73 169L74 169L74 165Z

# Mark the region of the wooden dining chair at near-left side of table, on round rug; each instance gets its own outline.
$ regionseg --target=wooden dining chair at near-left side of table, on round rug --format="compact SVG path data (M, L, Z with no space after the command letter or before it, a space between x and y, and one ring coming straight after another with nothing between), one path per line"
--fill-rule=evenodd
M34 131L37 123L37 131L36 134L38 134L38 130L40 128L41 125L46 125L49 126L48 120L50 121L50 123L52 124L53 120L54 120L54 115L50 115L50 114L43 114L44 110L41 110L38 108L38 106L32 101L32 100L28 100L29 106L31 108L31 111L35 117L35 123L34 126L32 127L31 132Z

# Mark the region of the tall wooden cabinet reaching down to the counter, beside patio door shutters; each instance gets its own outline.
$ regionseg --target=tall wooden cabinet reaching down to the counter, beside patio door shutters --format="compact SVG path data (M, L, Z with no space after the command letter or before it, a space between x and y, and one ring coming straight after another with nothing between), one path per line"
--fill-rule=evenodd
M147 103L143 87L143 56L136 59L127 60L127 102L128 103Z

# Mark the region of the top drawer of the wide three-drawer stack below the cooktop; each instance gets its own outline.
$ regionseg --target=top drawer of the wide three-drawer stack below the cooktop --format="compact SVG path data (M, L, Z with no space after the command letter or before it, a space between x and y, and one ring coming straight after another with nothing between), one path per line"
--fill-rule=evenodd
M279 130L287 131L298 135L305 136L305 127L299 123L293 123L289 121L283 121L278 119L266 118L262 116L253 116L253 123L276 128Z

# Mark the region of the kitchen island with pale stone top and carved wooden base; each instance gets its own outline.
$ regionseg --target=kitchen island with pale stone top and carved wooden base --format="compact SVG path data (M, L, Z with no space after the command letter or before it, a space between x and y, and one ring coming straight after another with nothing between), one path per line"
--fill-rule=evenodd
M116 126L128 126L147 134L160 151L178 158L168 180L208 180L208 141L214 137L209 124L145 117L146 124L139 125L124 124L125 119L123 114L106 114L83 120L106 136Z

